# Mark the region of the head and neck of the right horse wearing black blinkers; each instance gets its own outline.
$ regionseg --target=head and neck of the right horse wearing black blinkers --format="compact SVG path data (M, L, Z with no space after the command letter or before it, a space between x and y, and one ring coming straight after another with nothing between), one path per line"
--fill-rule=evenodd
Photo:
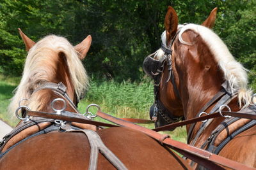
M177 122L179 117L195 117L225 82L230 93L238 92L233 103L239 103L237 108L250 103L244 67L211 30L216 11L214 8L202 25L179 25L175 10L168 7L161 48L143 63L145 72L155 80L156 127ZM147 67L148 60L156 60L158 69Z

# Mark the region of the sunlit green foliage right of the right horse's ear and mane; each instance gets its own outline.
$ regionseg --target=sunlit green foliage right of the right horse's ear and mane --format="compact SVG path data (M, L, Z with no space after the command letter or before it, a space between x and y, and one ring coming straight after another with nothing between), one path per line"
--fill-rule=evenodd
M215 30L234 57L252 71L250 81L255 84L256 1L229 0L223 3L220 10Z

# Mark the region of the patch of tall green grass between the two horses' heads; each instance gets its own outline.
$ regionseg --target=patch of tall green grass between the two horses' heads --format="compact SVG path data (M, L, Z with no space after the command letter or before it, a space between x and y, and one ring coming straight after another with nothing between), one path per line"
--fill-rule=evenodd
M153 85L150 81L141 83L123 81L97 81L90 83L86 101L102 104L108 111L123 116L148 118L148 110L154 101Z

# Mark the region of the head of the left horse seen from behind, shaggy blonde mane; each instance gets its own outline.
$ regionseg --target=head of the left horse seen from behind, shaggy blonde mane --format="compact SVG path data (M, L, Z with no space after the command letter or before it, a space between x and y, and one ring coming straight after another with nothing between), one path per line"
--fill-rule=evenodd
M19 32L28 55L20 84L9 106L10 112L15 113L19 103L31 110L52 111L51 101L60 97L52 90L54 88L62 88L70 101L65 100L77 105L88 87L88 76L81 60L90 48L92 37L87 36L72 46L60 36L46 36L35 43L20 29ZM63 107L60 101L55 105L56 108ZM67 110L74 111L74 107L68 104Z

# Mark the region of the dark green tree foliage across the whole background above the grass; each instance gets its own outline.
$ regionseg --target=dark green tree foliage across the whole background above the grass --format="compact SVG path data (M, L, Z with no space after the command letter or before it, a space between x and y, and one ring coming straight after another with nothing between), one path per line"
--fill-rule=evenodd
M85 60L90 74L118 81L140 80L143 59L160 46L168 5L177 11L180 23L196 24L218 6L214 31L239 61L256 71L254 0L2 0L0 71L17 76L22 72L26 52L17 31L20 27L35 41L60 34L76 44L91 34L93 43Z

